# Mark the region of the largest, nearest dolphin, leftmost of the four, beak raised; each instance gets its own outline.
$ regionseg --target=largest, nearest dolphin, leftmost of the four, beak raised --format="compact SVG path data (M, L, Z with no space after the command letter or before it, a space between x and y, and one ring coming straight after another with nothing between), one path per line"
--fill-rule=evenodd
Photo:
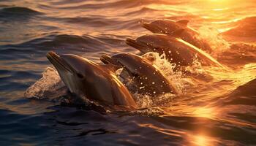
M61 80L71 93L86 96L99 104L135 109L137 104L123 83L115 75L112 65L99 65L78 55L47 53Z

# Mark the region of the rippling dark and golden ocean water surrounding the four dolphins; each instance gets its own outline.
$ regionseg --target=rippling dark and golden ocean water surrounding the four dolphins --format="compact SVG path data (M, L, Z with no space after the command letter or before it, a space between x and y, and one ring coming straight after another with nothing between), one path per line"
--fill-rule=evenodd
M61 102L48 51L140 54L124 40L162 18L189 20L225 69L194 64L191 77L156 55L182 96L135 94L131 112ZM255 41L254 0L0 1L0 145L256 145Z

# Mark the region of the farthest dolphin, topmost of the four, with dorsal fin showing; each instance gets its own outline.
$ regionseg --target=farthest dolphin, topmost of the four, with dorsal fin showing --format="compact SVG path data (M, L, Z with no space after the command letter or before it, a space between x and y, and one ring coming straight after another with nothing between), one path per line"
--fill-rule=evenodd
M151 23L141 23L141 25L155 34L167 34L173 37L179 37L186 42L189 42L195 47L199 47L202 50L211 52L210 45L198 39L199 34L192 28L189 28L187 24L189 20L155 20Z

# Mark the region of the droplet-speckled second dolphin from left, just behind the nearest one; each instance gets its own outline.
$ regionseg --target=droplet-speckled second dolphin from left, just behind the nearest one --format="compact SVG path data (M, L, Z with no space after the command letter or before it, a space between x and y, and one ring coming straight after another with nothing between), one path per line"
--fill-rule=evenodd
M112 56L102 55L100 60L104 64L123 67L122 72L128 72L135 85L138 86L138 93L150 96L178 93L165 75L157 69L157 66L152 65L150 61L143 59L139 55L132 53L118 53Z

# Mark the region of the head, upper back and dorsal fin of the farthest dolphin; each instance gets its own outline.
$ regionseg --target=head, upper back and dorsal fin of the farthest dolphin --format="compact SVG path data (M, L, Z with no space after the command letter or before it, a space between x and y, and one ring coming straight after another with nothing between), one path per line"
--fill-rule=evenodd
M151 23L142 23L142 26L157 34L173 34L187 26L188 20L155 20Z

